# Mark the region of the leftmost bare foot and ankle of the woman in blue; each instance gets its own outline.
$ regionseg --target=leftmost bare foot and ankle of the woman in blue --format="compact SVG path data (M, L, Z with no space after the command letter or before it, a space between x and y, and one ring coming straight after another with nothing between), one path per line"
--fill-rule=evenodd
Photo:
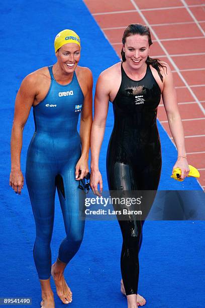
M41 308L55 308L53 291L50 285L50 278L45 280L40 280L41 283Z

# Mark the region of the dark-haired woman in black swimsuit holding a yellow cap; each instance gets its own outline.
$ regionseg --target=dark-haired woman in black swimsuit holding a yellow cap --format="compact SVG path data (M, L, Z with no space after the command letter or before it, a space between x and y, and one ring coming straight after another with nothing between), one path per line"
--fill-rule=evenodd
M98 158L109 101L113 103L115 115L107 153L110 190L157 190L161 173L161 147L156 118L161 95L178 150L173 169L180 168L182 178L185 178L189 171L183 127L169 66L149 57L152 40L148 27L141 24L128 26L122 42L123 62L116 63L103 71L96 85L95 112L91 130L90 181L95 194L98 194L98 184L102 191ZM148 207L151 205L152 202ZM119 219L123 236L121 291L127 295L129 308L136 308L146 303L143 297L137 296L138 254L142 242L143 222L132 216L127 216L127 220Z

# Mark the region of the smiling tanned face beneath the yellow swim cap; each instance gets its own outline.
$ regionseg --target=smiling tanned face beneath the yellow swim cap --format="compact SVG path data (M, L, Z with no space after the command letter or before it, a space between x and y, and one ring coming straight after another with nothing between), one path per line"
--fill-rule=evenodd
M62 71L71 73L80 60L80 46L75 43L65 44L58 49L56 57Z

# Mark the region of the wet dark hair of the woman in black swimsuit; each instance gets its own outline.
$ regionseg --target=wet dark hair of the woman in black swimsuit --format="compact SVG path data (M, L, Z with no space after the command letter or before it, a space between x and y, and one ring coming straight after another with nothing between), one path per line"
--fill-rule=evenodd
M131 24L125 29L125 32L123 34L123 39L122 39L123 45L125 45L126 38L128 36L135 35L135 34L139 34L139 35L142 35L142 36L147 35L149 46L152 45L152 38L151 38L149 27L141 25L141 24ZM125 52L123 51L123 48L121 50L121 55L122 55L123 62L125 62L126 57L125 57ZM164 68L166 68L166 66L163 65L159 59L153 59L153 58L150 58L149 56L147 57L147 60L145 62L148 65L151 64L152 67L154 67L157 70L157 72L160 76L160 79L163 82L163 76L160 72L160 67L164 69Z

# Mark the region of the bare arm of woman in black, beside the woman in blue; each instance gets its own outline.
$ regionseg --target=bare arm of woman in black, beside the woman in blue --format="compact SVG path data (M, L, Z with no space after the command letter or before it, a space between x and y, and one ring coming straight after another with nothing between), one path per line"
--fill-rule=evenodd
M102 177L99 172L98 161L99 151L104 138L106 119L108 115L110 99L110 85L106 78L106 72L102 72L98 78L94 97L94 119L90 135L90 187L94 194L99 195L97 185L99 184L100 193L102 192Z

